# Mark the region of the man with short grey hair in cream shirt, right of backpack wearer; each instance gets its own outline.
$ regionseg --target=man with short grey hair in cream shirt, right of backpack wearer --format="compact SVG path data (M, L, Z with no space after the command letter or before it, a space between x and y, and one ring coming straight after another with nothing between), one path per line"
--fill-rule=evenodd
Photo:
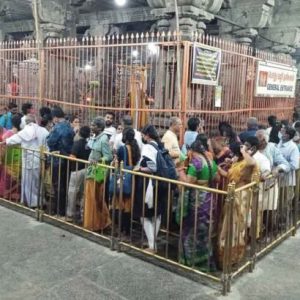
M169 130L166 131L162 138L165 148L169 151L170 156L173 158L174 163L176 164L180 158L180 147L178 136L182 128L182 121L178 117L172 117L170 119Z

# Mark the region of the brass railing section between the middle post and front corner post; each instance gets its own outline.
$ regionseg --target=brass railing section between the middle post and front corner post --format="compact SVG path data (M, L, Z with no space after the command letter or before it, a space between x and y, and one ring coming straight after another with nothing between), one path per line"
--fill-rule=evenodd
M223 282L226 276L222 269L226 268L223 254L218 257L219 224L215 217L227 192L127 170L122 164L119 174L119 187L116 185L113 195L118 203L114 201L112 208L113 224L118 219L118 227L113 229L116 247L133 249L202 278ZM130 196L123 193L128 175L132 177ZM129 214L119 209L126 207L125 201L130 202ZM124 216L130 226L125 236Z

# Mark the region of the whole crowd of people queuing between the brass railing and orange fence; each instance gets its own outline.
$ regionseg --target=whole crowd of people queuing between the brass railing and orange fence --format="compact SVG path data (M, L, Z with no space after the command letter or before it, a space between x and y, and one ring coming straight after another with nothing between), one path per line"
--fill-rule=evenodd
M116 124L114 113L107 112L89 126L81 126L78 116L68 117L60 107L42 107L37 116L31 103L22 105L22 113L10 103L2 107L0 115L0 197L31 208L36 208L41 199L40 204L50 213L82 222L91 231L103 231L112 225L114 207L122 213L122 233L130 235L132 220L139 222L147 237L146 250L152 253L158 250L157 236L171 206L182 228L180 262L211 269L215 261L222 261L226 244L229 216L224 213L222 201L213 199L209 191L172 185L171 203L167 203L168 186L143 176L136 176L129 192L118 197L110 192L111 172L103 175L98 164L124 162L126 168L138 174L157 175L162 174L161 160L168 155L179 181L224 190L229 183L240 188L259 176L259 230L251 237L259 238L262 228L270 226L266 213L276 215L276 222L286 218L277 211L280 206L291 207L299 168L300 121L290 124L270 116L268 122L269 127L264 127L251 117L247 129L238 134L228 122L222 121L218 129L206 132L199 118L191 117L183 124L180 118L171 117L169 129L161 138L153 125L138 131L128 115ZM187 130L181 144L183 126ZM54 155L41 160L41 147ZM45 182L41 183L43 169L48 176L43 176ZM118 186L117 174L114 176ZM263 183L266 180L270 182L267 187ZM41 185L46 191L43 195ZM267 194L272 194L272 201L265 201ZM47 198L54 201L47 202ZM247 223L251 222L249 206L247 192L240 193L233 213L233 263L245 255ZM209 238L212 223L216 243Z

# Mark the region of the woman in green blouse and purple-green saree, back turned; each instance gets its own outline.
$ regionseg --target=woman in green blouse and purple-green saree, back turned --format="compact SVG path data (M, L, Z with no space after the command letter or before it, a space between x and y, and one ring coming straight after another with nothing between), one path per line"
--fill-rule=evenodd
M210 187L217 175L213 155L197 139L188 153L187 169L179 169L181 181ZM211 230L213 222L212 194L206 191L186 188L177 207L177 223L182 223L180 263L202 271L215 269Z

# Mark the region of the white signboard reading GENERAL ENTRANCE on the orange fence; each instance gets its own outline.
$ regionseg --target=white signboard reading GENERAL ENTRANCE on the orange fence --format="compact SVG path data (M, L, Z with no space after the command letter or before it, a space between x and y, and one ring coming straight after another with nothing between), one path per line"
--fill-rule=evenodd
M295 97L297 69L292 66L259 61L256 97Z

